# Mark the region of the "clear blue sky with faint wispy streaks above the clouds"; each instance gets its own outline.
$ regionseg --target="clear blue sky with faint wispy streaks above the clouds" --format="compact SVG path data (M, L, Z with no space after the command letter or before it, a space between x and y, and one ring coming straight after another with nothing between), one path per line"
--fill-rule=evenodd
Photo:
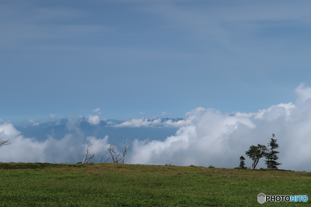
M1 119L257 112L309 83L309 1L0 2Z

